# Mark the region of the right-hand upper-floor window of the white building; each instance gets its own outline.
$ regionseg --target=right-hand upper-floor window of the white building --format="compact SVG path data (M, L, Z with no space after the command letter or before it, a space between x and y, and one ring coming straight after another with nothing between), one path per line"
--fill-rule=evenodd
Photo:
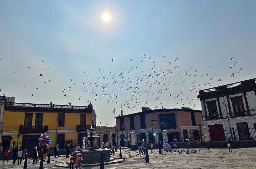
M234 116L235 117L244 116L245 112L244 112L243 96L232 97L231 102L232 102L232 107L234 111Z

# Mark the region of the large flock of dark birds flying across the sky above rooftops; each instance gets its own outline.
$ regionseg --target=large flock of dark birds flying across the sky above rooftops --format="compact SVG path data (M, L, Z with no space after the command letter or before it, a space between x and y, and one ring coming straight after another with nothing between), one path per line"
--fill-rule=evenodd
M141 56L141 63L134 62L131 59L130 64L126 66L122 65L119 70L112 71L107 71L104 67L100 67L98 70L92 70L94 72L93 76L91 70L85 70L83 73L81 72L82 83L79 81L74 82L74 80L70 79L70 83L62 89L60 93L63 94L63 97L67 97L68 99L69 93L76 91L80 95L77 100L80 100L83 94L87 96L89 94L90 100L94 103L98 102L100 106L113 102L118 106L130 108L133 112L135 112L135 110L140 112L141 107L157 108L163 104L163 98L166 97L170 98L167 101L168 103L164 105L166 108L172 108L179 103L184 105L185 100L189 100L188 102L190 103L188 106L193 108L195 107L195 102L199 100L196 98L198 90L200 88L210 88L212 81L216 78L210 77L209 73L199 74L197 69L192 69L192 67L182 72L180 70L179 57L172 55L173 51L170 52L169 55L162 55L162 57L160 55L160 57L165 60L165 63L161 62L160 64L156 64L156 61L152 59L151 56L148 57L144 54ZM233 60L234 57L231 57L232 63ZM2 61L1 58L0 61ZM115 64L113 59L109 62ZM42 63L44 64L43 60ZM137 66L133 66L136 64ZM141 67L145 66L144 64L146 64L147 70L144 69L143 71ZM227 69L234 70L236 64L237 62L234 62ZM156 67L159 67L159 65L160 68L157 69ZM6 66L8 66L7 63ZM0 67L0 69L4 69L4 67ZM29 65L27 69L30 69ZM110 69L109 66L106 66L106 69ZM211 66L208 67L208 69L211 69ZM46 68L44 68L44 70L46 70ZM98 72L97 77L95 77L95 71ZM242 68L233 72L230 76L234 77L240 71L242 71ZM44 73L39 72L38 76L43 78ZM206 79L209 77L209 80L204 84L196 84L197 78L203 76L205 76ZM218 77L218 81L221 80L221 77ZM44 83L50 82L50 79L44 81ZM187 85L189 84L189 89L185 88L186 83ZM173 89L171 85L175 88ZM171 89L172 92L170 91ZM185 95L185 91L189 94ZM176 94L173 94L173 92L176 92ZM164 95L165 97L163 97ZM33 93L31 93L31 96L33 96ZM156 105L149 105L151 101ZM169 103L173 104L169 105Z

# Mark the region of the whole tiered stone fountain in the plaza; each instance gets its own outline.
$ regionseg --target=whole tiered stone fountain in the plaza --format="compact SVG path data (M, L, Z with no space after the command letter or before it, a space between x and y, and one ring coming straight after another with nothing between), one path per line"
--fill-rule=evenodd
M93 164L93 163L100 163L100 152L103 151L104 154L110 155L111 149L95 149L93 148L93 141L95 138L99 138L99 136L95 136L95 129L87 129L87 137L83 138L83 141L85 143L85 140L90 141L90 148L89 150L83 150L83 151L73 151L71 152L76 156L77 153L82 154L82 158L84 159L84 162L82 164ZM103 156L104 162L113 161L115 158L110 158L108 156ZM95 157L95 158L93 158ZM92 159L91 159L92 158ZM89 161L87 161L90 159Z

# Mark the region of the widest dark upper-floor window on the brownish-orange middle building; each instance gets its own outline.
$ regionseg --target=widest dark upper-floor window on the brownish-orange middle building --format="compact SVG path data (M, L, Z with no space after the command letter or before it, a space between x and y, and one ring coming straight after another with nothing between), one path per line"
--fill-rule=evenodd
M164 129L176 129L175 114L160 114L160 127Z

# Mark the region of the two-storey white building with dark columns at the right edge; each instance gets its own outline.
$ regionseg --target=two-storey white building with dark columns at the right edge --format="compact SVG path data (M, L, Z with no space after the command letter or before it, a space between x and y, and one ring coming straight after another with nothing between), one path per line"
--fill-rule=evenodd
M199 91L212 141L256 139L256 78Z

